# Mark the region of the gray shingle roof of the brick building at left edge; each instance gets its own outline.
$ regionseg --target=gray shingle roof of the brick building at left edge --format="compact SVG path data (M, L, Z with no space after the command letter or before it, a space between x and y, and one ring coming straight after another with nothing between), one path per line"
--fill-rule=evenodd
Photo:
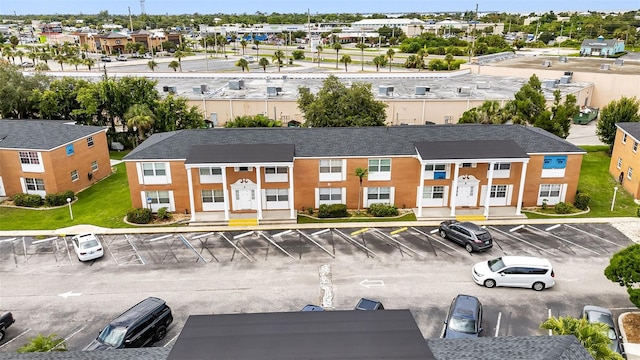
M105 129L56 120L0 120L0 149L51 150Z

